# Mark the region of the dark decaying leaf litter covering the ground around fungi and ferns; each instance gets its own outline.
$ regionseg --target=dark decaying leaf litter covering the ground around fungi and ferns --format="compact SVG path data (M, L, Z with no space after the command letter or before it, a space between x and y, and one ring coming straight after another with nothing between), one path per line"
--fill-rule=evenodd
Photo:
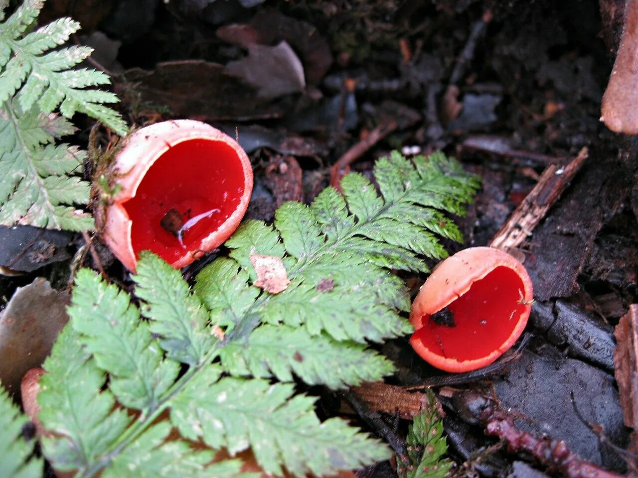
M524 257L537 302L517 347L486 369L447 375L420 361L406 338L390 340L380 349L397 366L395 375L346 397L319 391L323 416L357 419L356 409L369 430L384 438L392 433L399 447L406 422L396 417L413 416L431 386L443 405L459 476L584 470L565 467L570 455L558 453L556 444L548 449L551 459L534 460L520 438L512 440L516 430L564 440L561 453L567 449L613 472L635 469L635 455L623 452L634 426L626 390L635 356L632 365L624 352L630 359L614 370L611 351L613 328L638 293L635 144L598 121L622 1L113 0L97 6L48 0L49 17L41 21L70 15L82 23L82 34L112 40L91 43L96 54L103 52L93 59L119 73L113 91L131 123L190 118L236 134L255 168L248 218L272 221L284 201L308 203L349 170L372 178L373 161L392 149L410 155L442 148L483 180L466 217L456 218L464 246L519 238L508 247ZM76 125L71 143L86 148L93 122ZM89 146L104 148L110 134L100 129ZM531 222L508 220L516 214ZM6 238L12 248L22 240L12 229ZM451 253L462 246L446 247ZM90 249L81 235L59 243L43 233L25 243L2 264L26 272L1 279L4 298L36 277L64 289L69 271L82 263L99 265L130 288L130 276L98 236ZM215 256L189 266L185 277ZM413 293L424 279L399 275ZM635 328L634 315L623 321ZM617 331L616 339L625 351L635 345L627 332ZM619 393L614 371L624 377ZM503 409L512 414L501 416ZM370 419L378 412L385 415ZM505 438L509 451L493 446L486 427ZM378 465L361 473L393 470Z

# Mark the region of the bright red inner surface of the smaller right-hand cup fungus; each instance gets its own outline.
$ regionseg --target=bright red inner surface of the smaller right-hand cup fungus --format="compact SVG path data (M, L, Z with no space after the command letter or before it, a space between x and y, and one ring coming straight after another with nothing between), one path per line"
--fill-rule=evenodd
M413 339L445 358L457 361L484 358L512 335L526 307L521 303L524 291L523 280L516 272L497 267L447 306L454 314L456 326L436 324L426 314L424 326L415 332Z

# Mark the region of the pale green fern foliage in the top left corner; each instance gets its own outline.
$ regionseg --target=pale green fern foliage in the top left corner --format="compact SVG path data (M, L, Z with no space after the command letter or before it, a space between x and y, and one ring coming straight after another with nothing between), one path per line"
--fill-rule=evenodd
M0 0L0 21L7 4ZM79 29L77 22L61 18L30 31L43 4L24 0L0 23L0 224L83 231L93 228L91 215L76 208L89 201L89 184L78 177L86 155L55 145L75 130L52 112L59 109L66 118L85 113L118 134L127 127L103 105L115 103L115 94L86 89L110 83L108 76L73 69L93 50L57 48Z

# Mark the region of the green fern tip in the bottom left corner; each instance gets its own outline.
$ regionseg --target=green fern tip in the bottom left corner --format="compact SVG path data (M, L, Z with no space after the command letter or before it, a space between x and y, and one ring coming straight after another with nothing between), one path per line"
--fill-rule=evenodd
M0 384L0 476L11 478L41 478L44 464L33 458L33 445L22 437L23 427L29 419Z

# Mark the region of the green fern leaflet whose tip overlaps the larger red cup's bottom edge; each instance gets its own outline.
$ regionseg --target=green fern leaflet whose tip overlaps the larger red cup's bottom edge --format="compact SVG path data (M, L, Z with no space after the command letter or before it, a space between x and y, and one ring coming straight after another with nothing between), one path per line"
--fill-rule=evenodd
M142 315L151 319L152 333L168 357L197 365L216 342L207 327L208 314L198 296L190 293L179 270L143 251L133 276L137 296L145 301Z

